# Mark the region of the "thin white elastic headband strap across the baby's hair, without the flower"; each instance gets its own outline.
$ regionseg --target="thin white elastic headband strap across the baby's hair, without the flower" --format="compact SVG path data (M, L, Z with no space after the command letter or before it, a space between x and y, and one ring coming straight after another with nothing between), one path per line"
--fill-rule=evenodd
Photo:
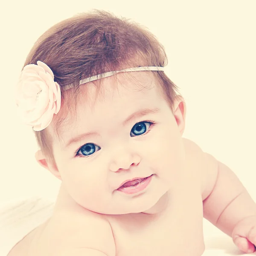
M85 83L88 83L88 82L91 82L91 81L95 81L95 80L98 80L98 79L102 79L102 78L105 78L105 77L108 77L108 76L113 76L113 75L116 75L120 72L133 72L133 71L164 71L164 68L163 67L131 67L131 68L127 68L127 69L124 69L124 70L118 70L118 71L111 71L111 72L107 72L107 73L103 73L103 74L100 74L100 75L96 75L96 76L91 76L91 77L88 77L86 79L82 79L79 81L79 85L81 84L85 84ZM73 87L73 84L68 84L64 87L62 87L63 90L68 90L70 88Z

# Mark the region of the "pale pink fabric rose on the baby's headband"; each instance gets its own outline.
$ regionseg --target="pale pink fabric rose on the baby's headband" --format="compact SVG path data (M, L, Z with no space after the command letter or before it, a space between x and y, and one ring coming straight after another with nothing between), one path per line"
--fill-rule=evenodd
M34 131L44 130L61 107L61 90L42 61L26 65L16 87L17 114Z

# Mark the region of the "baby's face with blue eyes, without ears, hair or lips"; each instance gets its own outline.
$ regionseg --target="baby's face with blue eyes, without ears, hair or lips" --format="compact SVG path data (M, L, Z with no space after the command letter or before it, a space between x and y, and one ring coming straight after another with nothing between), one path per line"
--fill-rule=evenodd
M184 149L175 116L148 72L135 72L134 77L146 88L119 76L122 85L113 90L113 78L105 78L103 87L108 89L96 102L95 87L82 85L81 95L90 97L78 99L77 120L61 131L63 140L54 138L53 153L65 189L94 212L146 211L182 175ZM117 190L126 180L151 175L142 191Z

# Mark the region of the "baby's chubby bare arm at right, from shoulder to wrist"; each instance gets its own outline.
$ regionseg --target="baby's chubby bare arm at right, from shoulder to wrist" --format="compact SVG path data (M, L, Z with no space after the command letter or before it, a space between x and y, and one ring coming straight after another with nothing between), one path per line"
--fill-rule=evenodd
M204 217L229 236L236 224L256 215L256 204L225 164L204 153Z

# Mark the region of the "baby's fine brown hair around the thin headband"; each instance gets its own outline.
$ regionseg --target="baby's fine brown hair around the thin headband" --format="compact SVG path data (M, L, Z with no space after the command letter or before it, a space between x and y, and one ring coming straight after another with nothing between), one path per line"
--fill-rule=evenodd
M65 102L69 111L68 102L76 105L81 79L129 67L167 64L163 46L145 27L99 10L81 13L48 29L32 47L24 67L38 60L51 68L54 80L61 87L61 108ZM152 73L172 108L179 94L177 86L164 72ZM64 91L63 87L68 84L73 88ZM67 111L57 114L54 126L57 133L58 128L65 125L64 113ZM47 128L34 133L47 162L54 164L52 138Z

